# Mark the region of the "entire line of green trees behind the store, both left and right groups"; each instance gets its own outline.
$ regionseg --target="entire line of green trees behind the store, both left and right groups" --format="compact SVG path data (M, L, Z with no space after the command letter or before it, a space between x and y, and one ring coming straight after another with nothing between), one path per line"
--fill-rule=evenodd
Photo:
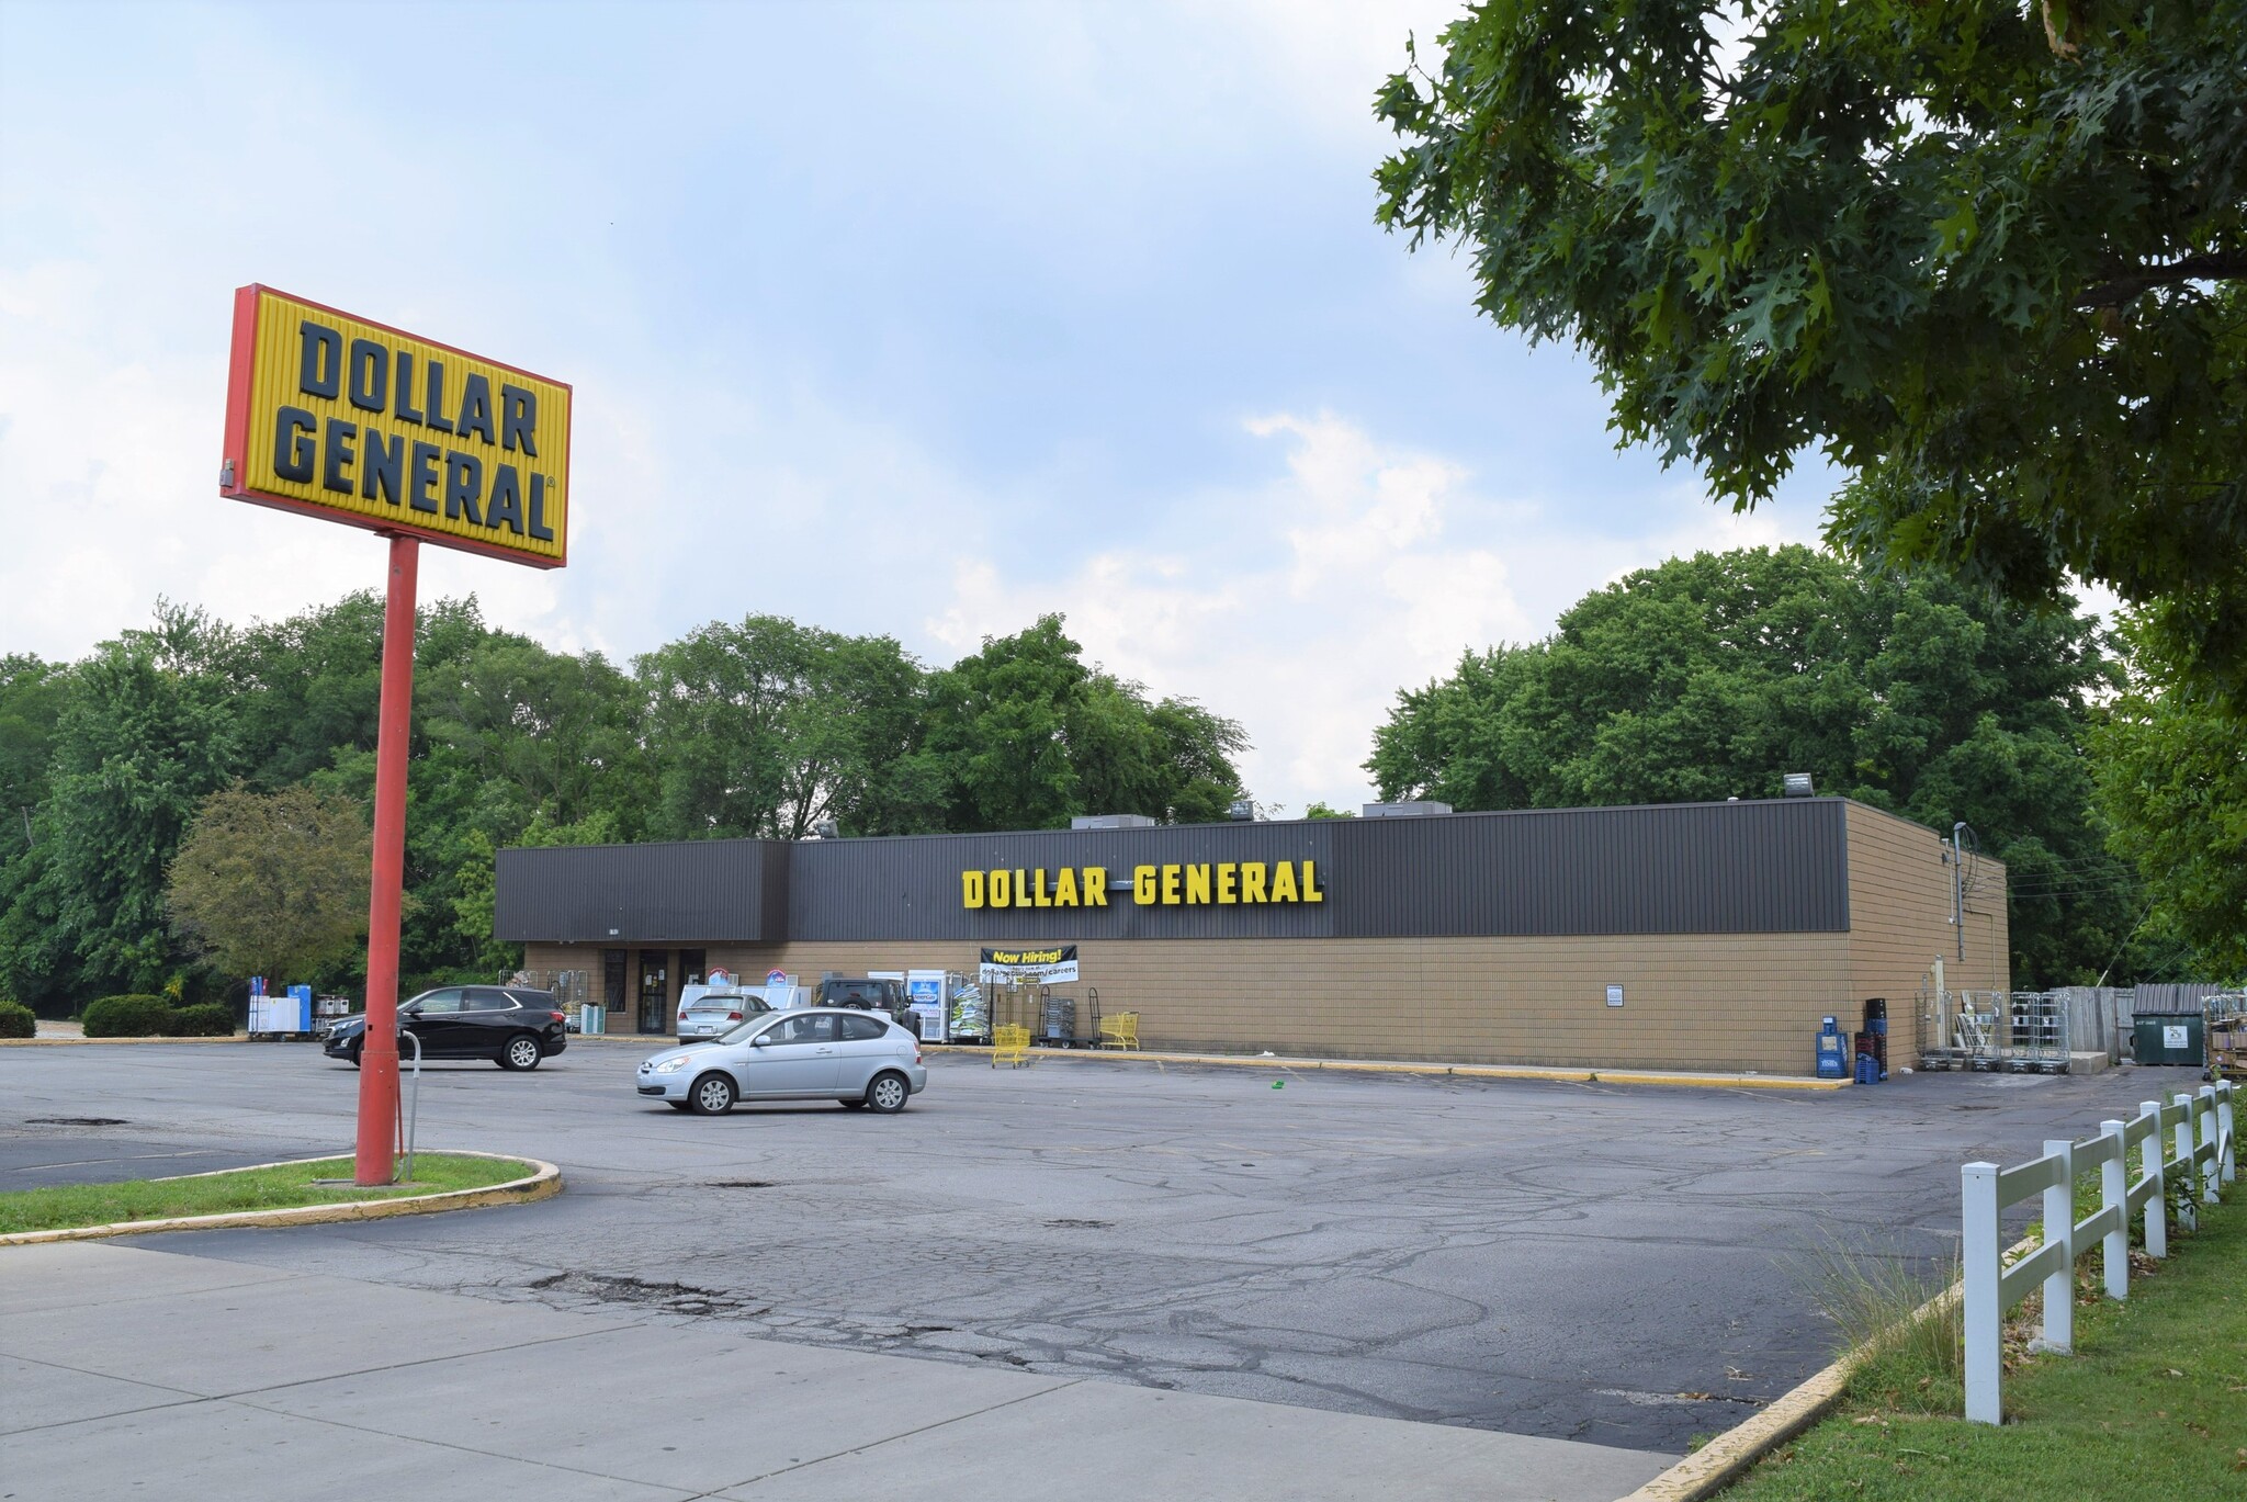
M160 603L76 663L0 659L0 994L355 989L380 659L371 594L249 627ZM1088 663L1058 616L948 668L777 616L618 666L440 600L413 697L407 985L521 962L492 935L503 845L1207 823L1247 796L1240 724ZM1807 771L1971 825L2009 868L2016 985L2247 967L2247 749L2128 618L1701 553L1465 652L1371 742L1382 798L1463 812L1766 798Z

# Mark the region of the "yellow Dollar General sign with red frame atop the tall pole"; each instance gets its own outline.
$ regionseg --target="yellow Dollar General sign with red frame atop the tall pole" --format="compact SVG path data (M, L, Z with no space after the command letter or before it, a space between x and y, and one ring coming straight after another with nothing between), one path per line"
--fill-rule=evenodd
M568 560L571 389L272 288L234 295L222 495Z

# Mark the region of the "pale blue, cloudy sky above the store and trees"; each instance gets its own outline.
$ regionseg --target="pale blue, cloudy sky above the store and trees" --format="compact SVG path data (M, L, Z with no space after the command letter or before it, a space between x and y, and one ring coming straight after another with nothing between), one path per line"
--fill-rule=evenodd
M1063 612L1355 807L1400 688L1618 576L1811 542L1373 223L1463 4L0 0L0 652L380 589L218 495L258 281L573 384L571 562L422 598L618 661L750 612L924 663Z

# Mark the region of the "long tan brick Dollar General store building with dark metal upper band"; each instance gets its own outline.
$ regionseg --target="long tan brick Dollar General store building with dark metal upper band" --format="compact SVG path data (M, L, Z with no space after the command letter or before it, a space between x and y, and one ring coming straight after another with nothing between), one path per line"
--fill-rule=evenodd
M1962 944L1944 850L1845 798L501 850L499 938L611 1032L717 967L1076 944L1054 989L1148 1048L1809 1075L1822 1016L1908 1030L1937 958L2011 989L2004 868L1964 872Z

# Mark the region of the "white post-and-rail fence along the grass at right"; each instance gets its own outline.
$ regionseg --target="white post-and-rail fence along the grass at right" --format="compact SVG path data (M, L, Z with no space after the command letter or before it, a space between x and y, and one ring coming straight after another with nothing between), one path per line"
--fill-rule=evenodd
M2130 1176L2130 1149L2139 1171ZM2099 1210L2076 1221L2076 1174L2099 1169ZM2180 1225L2193 1225L2193 1203L2213 1203L2238 1178L2234 1086L2213 1084L2166 1106L2141 1102L2137 1120L2099 1122L2085 1142L2045 1142L2045 1156L2018 1169L1995 1162L1959 1167L1964 1201L1966 1417L2002 1423L1998 1342L2004 1311L2045 1286L2045 1331L2031 1349L2065 1356L2076 1342L2076 1255L2101 1243L2108 1297L2130 1297L2130 1221L2146 1216L2146 1252L2168 1255L2168 1183L2186 1185ZM2043 1246L2011 1266L1998 1250L1998 1219L2031 1194L2045 1196Z

